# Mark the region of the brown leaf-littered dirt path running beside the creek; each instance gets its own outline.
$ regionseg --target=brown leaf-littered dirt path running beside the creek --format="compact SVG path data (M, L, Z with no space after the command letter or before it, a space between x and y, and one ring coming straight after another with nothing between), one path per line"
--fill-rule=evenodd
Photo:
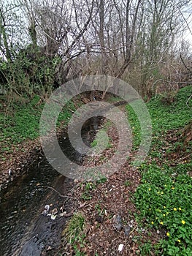
M123 106L120 108L124 110ZM85 166L100 165L103 159L110 159L114 154L118 143L117 131L115 127L108 127L107 132L112 146L100 157L86 157ZM146 230L139 228L134 217L138 212L134 206L134 192L140 184L141 175L131 166L131 159L134 159L134 152L123 167L109 178L77 184L74 192L75 197L80 198L77 211L86 223L84 244L81 246L77 242L77 249L74 249L75 246L64 243L61 252L65 251L67 255L73 255L77 250L84 255L137 255L140 244L149 238L152 244L158 241L161 235L154 232L152 237L148 236Z

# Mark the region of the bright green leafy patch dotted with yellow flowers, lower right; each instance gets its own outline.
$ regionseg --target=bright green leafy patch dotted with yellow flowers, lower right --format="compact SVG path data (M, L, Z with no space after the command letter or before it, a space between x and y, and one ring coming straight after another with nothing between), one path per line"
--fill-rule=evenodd
M191 255L191 177L185 170L155 163L142 165L141 171L142 184L135 195L139 219L148 227L164 230L164 239L158 244L163 255Z

